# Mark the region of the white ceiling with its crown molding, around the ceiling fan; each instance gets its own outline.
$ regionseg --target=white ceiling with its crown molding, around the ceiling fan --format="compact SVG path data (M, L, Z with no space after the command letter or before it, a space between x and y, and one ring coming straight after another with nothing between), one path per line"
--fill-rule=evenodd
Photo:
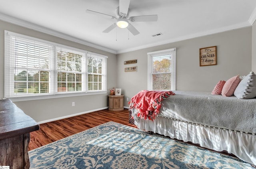
M140 31L102 31L115 22L86 10L115 15L119 0L0 0L0 20L36 29L111 53L252 26L256 0L130 0L129 16L158 15L157 22L132 22ZM152 35L162 33L160 36Z

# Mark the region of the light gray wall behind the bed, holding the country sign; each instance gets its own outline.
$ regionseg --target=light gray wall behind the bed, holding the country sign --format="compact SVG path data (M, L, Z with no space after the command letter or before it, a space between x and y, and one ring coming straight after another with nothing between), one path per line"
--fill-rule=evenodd
M156 37L157 38L157 37ZM199 66L199 49L217 46L217 65ZM147 89L147 53L176 47L176 90L211 92L220 80L247 75L252 69L252 27L226 31L117 55L117 86L122 88L124 106L140 90ZM124 61L137 59L136 64ZM137 72L124 73L124 67Z

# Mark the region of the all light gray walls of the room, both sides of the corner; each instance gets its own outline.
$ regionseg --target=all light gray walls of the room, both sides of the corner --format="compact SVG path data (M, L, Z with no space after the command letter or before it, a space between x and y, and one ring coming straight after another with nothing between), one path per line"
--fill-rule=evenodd
M247 75L252 69L256 71L255 64L252 63L252 61L254 63L256 61L256 52L254 48L252 49L252 43L255 44L256 41L256 26L150 47L116 56L86 45L0 21L0 98L4 97L4 30L107 55L107 88L122 88L124 106L126 107L128 107L127 97L130 100L137 92L147 88L148 52L176 47L177 90L212 91L219 80L228 80L238 74ZM199 49L215 45L217 46L217 65L200 67ZM252 53L254 53L253 57ZM124 61L132 59L137 59L137 63L124 65ZM133 65L138 68L136 73L124 73L124 67ZM41 122L105 108L108 106L108 94L109 92L89 96L15 102L15 104L36 121ZM72 102L76 103L75 107L71 106Z

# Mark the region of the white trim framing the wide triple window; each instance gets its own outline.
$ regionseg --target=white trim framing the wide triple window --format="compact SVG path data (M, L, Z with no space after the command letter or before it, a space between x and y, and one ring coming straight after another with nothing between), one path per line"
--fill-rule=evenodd
M67 46L67 45L62 45L62 44L59 44L59 43L54 43L54 42L51 42L51 41L46 41L46 40L43 40L43 39L38 39L38 38L35 38L35 37L30 37L30 36L27 36L27 35L22 35L22 34L19 34L19 33L14 33L14 32L11 32L11 31L7 31L5 30L4 31L4 35L5 35L5 39L4 39L4 58L5 58L5 61L4 61L4 79L5 79L5 82L4 82L4 97L6 98L6 96L10 95L9 94L9 90L7 91L6 90L6 86L8 86L8 84L10 83L10 77L7 77L7 76L10 76L10 68L9 66L7 66L7 64L10 63L10 59L6 59L8 58L7 56L7 53L8 51L6 50L6 47L8 47L9 44L7 39L10 38L10 36L17 36L17 37L20 37L20 38L24 38L24 39L27 39L28 41L38 41L39 43L46 43L48 45L53 45L54 48L59 48L59 47L63 47L63 48L66 48L66 49L70 49L71 51L74 50L74 51L77 51L77 52L82 52L85 54L85 58L88 57L88 55L96 55L97 57L100 57L102 59L104 59L105 61L105 64L104 64L104 82L102 83L102 90L98 90L98 91L94 91L94 90L88 90L88 81L87 81L87 70L86 70L86 81L84 81L85 85L86 85L86 91L81 91L81 92L55 92L55 93L48 93L48 94L39 94L39 95L32 95L32 96L16 96L16 97L8 97L10 98L13 102L18 102L18 101L27 101L27 100L40 100L40 99L50 99L50 98L62 98L62 97L72 97L72 96L84 96L84 95L92 95L92 94L106 94L107 93L107 56L106 55L101 55L101 54L98 54L98 53L94 53L94 52L90 52L90 51L86 51L86 50L83 50L83 49L78 49L78 48L75 48L75 47L70 47L70 46ZM54 49L54 51L56 50ZM54 59L57 59L55 58L56 56L53 56ZM87 66L85 67L85 69L87 69ZM57 71L57 69L53 70L54 72ZM55 77L54 81L56 81L56 78ZM8 80L8 81L7 81ZM102 80L103 81L103 80ZM57 83L57 82L56 82ZM54 82L54 85L55 82ZM9 88L9 87L8 87ZM8 93L8 94L7 94Z

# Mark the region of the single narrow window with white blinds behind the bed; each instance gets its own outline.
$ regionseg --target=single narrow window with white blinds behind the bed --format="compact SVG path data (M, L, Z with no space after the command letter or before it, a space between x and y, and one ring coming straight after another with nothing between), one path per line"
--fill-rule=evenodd
M176 90L176 48L148 53L148 90Z

